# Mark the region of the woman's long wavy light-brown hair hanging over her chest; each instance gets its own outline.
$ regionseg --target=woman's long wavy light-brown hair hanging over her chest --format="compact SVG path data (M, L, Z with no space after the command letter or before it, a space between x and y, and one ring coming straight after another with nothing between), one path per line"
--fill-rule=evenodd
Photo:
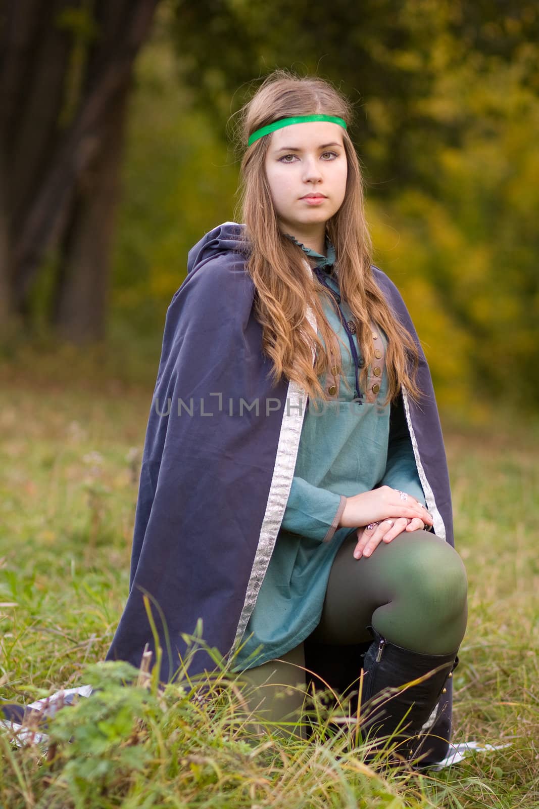
M242 144L246 145L256 129L273 121L312 113L339 116L347 125L352 118L351 105L331 84L318 77L299 77L276 70L267 76L239 112ZM327 322L319 296L324 295L335 311L337 308L333 296L315 274L306 272L301 247L280 232L265 170L271 137L259 138L243 155L236 221L245 223L246 269L257 292L255 315L263 329L263 351L272 359L273 379L277 383L281 375L285 375L299 383L311 399L322 400L326 395L319 375L341 363L339 349L335 349L335 332ZM335 247L340 294L356 322L364 359L360 387L366 388L368 366L374 360L374 323L388 338L386 403L398 396L402 385L417 399L418 349L409 332L396 320L373 278L363 177L356 150L345 129L343 145L347 156L346 193L337 213L326 222L326 231ZM307 305L314 310L323 343L307 320Z

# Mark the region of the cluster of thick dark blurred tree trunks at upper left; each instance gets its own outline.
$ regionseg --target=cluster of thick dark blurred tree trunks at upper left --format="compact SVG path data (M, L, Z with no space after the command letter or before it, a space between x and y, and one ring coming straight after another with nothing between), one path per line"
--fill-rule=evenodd
M133 60L158 0L6 0L0 12L0 316L28 313L56 254L50 318L101 337Z

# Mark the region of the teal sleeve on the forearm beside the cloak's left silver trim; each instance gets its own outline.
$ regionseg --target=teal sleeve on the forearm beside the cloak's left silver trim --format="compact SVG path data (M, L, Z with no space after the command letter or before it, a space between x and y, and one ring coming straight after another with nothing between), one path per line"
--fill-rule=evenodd
M343 515L346 498L293 477L281 527L293 534L329 542Z

